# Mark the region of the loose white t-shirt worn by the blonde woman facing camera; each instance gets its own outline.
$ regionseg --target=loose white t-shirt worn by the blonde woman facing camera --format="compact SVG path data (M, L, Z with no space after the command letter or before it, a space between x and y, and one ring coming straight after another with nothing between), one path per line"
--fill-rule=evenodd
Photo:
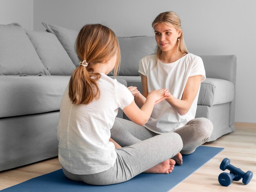
M199 56L186 54L173 63L162 63L158 59L156 67L155 59L156 55L153 54L142 58L139 62L139 73L147 77L148 92L167 88L175 98L182 99L189 77L202 75L202 81L206 78L204 64ZM184 126L189 120L195 118L198 94L185 115L178 113L166 100L155 105L150 119L144 126L159 134L173 132Z

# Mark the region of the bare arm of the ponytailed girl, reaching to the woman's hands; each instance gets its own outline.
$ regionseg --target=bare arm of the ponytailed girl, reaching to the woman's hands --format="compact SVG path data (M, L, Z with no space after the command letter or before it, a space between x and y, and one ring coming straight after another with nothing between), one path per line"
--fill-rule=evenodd
M134 123L137 123L138 125L144 125L148 122L155 103L159 102L159 100L165 99L167 92L168 89L154 90L148 94L144 105L141 106L140 109L133 100L130 105L124 107L123 112Z

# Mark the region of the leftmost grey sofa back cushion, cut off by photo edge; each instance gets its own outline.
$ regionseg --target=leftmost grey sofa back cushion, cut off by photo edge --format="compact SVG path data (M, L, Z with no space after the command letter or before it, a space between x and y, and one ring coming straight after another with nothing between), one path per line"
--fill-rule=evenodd
M0 25L0 75L50 75L17 24Z

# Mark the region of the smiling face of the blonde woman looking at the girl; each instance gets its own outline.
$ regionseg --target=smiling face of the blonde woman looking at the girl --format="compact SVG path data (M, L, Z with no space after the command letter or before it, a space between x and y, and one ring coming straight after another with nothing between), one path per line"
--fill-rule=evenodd
M162 51L177 50L177 39L181 35L181 30L163 23L158 23L154 29L155 40Z

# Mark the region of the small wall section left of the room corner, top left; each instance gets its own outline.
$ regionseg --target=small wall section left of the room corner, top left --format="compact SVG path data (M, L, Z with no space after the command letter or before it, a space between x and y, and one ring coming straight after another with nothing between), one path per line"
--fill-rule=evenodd
M33 0L0 0L0 24L18 22L33 30Z

